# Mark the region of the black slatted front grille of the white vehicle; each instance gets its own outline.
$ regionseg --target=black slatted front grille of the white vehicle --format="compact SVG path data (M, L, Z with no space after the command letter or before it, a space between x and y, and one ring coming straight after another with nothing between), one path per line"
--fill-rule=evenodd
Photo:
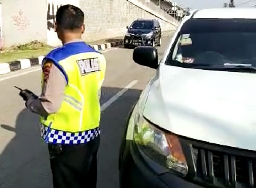
M213 150L209 147L192 146L196 178L214 187L253 188L256 187L255 152L249 157L240 155L241 150Z

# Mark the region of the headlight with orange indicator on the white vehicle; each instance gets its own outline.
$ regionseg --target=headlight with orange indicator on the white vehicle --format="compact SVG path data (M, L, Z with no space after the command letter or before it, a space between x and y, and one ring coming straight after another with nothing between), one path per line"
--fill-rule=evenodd
M171 172L182 177L188 173L178 137L156 128L139 113L135 117L134 140L144 154Z

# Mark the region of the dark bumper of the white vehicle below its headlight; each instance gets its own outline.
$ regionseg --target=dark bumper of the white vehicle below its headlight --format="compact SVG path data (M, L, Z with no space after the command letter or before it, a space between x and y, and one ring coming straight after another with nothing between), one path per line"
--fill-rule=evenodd
M133 142L125 142L120 168L121 188L203 188L171 173L156 173L159 167L150 167Z

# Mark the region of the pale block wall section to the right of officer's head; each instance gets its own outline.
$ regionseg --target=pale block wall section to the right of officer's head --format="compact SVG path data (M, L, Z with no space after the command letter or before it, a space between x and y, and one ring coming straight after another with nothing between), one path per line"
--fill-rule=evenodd
M163 31L175 30L174 25L177 24L176 20L151 1L86 0L80 1L80 7L85 12L86 41L123 36L126 26L137 18L157 18Z

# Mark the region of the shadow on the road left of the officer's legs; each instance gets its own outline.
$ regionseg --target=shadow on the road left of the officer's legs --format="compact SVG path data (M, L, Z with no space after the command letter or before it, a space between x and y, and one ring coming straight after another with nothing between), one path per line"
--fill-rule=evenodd
M16 134L0 154L1 188L51 186L48 153L39 138L38 125L38 117L27 109L18 114L15 128L1 125L1 129Z

